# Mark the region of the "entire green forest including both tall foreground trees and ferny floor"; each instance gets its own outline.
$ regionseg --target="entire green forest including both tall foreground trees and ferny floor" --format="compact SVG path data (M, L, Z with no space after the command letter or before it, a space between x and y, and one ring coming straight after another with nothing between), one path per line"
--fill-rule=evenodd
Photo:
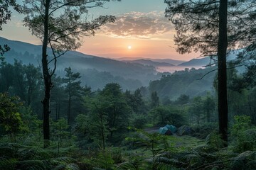
M107 2L0 1L1 33L14 10L42 43L36 55L0 43L0 169L256 169L255 1L162 2L176 50L213 61L201 69L157 73L100 57L65 66L80 36L116 20L81 20Z

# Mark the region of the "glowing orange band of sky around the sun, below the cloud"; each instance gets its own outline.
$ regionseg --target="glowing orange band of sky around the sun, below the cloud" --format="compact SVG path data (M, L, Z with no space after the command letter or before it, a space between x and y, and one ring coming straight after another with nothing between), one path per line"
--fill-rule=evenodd
M109 43L111 42L111 43ZM128 49L128 46L132 49ZM171 47L170 47L171 46ZM191 60L197 54L180 55L174 49L174 42L170 40L143 40L131 38L110 38L105 35L84 38L79 52L87 55L97 55L108 58L144 57L144 58L171 58L174 60Z

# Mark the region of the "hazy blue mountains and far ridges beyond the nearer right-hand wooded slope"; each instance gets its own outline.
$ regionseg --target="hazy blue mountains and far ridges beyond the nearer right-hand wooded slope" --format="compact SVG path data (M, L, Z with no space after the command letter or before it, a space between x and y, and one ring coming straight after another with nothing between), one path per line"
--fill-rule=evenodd
M32 45L16 40L7 40L0 37L0 45L7 44L11 47L5 54L5 61L14 63L14 60L23 64L41 66L41 45ZM50 51L50 49L48 49ZM160 79L163 74L161 68L171 68L171 72L184 68L201 68L209 64L210 58L193 59L188 62L171 59L144 59L144 58L119 58L116 60L81 52L69 51L58 58L56 73L65 76L65 67L71 67L73 72L80 72L82 84L91 86L93 90L102 89L105 84L119 83L125 89L137 89L148 86L150 81ZM163 69L162 72L165 69Z

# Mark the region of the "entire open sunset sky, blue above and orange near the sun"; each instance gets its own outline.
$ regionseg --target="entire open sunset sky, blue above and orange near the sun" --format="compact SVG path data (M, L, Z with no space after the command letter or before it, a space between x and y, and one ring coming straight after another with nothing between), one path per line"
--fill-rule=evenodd
M91 16L113 15L117 20L107 24L95 36L82 38L79 52L107 58L142 57L191 60L197 54L180 55L175 50L174 26L164 17L164 0L111 1L105 8L90 9ZM13 13L0 32L10 40L40 45L41 40L23 26L23 16Z

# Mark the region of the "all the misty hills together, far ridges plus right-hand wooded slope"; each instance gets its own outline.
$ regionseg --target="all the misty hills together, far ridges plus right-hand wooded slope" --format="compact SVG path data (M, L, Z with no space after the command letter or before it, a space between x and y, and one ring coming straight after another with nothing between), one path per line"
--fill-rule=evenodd
M32 45L26 42L7 40L0 37L0 45L11 47L5 54L5 61L11 64L14 60L23 64L41 66L41 45ZM48 49L50 51L50 49ZM231 52L228 60L235 57L238 51ZM50 57L50 55L49 55ZM82 85L87 85L93 91L103 89L107 83L118 83L122 89L134 91L147 86L146 91L157 91L161 98L175 99L181 94L189 96L205 94L212 88L215 72L208 74L198 81L204 74L215 67L200 69L210 62L210 57L193 59L188 62L171 59L143 59L143 58L110 58L85 55L81 52L70 51L58 58L56 74L65 77L65 67L71 67L73 72L79 72ZM171 68L170 73L166 69ZM185 68L196 69L185 69ZM184 70L185 69L185 70ZM162 72L157 72L161 70ZM175 72L175 70L183 70ZM149 93L147 94L150 95Z

